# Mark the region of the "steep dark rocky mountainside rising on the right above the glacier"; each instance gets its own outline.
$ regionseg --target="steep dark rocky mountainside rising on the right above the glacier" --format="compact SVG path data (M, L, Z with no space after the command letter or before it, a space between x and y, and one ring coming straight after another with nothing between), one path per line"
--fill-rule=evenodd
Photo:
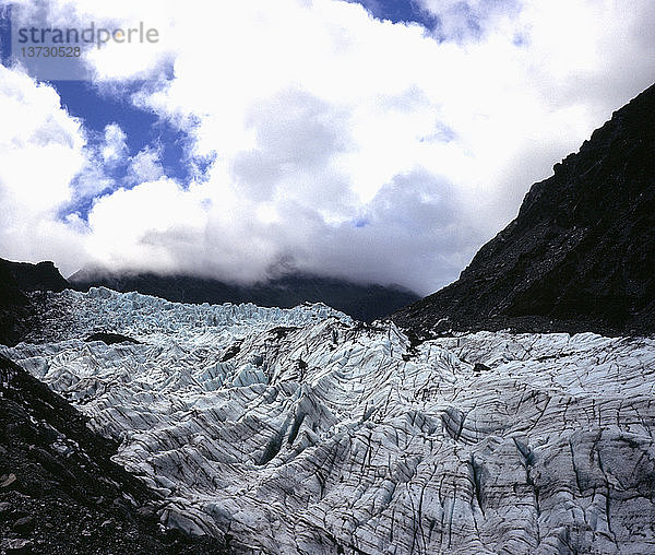
M533 185L460 279L392 315L449 330L655 332L655 85Z

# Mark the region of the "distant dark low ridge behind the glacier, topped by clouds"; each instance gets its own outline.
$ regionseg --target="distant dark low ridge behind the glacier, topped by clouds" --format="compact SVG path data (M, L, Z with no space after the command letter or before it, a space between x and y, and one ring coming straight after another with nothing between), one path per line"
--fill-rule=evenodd
M184 275L111 275L82 270L69 278L78 291L105 286L123 293L138 291L174 303L254 303L259 306L291 308L302 303L324 303L353 318L373 321L417 300L418 295L401 287L359 285L343 280L310 275L287 275L266 283L235 285L218 280Z

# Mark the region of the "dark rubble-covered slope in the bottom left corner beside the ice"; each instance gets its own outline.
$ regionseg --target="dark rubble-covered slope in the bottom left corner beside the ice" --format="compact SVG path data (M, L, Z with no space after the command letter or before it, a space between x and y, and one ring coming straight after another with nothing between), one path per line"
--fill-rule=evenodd
M0 553L225 553L216 540L160 532L163 501L111 462L117 448L0 356Z

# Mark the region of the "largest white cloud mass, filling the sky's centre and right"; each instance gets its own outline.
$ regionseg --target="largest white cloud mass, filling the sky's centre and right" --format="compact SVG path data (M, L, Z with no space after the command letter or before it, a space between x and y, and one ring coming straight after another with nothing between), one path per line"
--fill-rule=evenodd
M428 293L655 74L652 0L422 3L454 40L336 0L67 2L158 28L90 62L108 85L150 78L134 102L187 130L191 157L215 156L180 187L155 151L135 155L143 185L97 200L86 250L239 279L291 258ZM126 152L109 131L107 163Z

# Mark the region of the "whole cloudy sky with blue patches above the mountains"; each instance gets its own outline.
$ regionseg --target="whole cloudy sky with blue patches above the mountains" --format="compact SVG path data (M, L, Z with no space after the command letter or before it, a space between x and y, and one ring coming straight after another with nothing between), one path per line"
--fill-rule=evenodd
M655 81L653 0L181 5L0 0L0 257L428 294ZM19 20L157 40L73 74Z

